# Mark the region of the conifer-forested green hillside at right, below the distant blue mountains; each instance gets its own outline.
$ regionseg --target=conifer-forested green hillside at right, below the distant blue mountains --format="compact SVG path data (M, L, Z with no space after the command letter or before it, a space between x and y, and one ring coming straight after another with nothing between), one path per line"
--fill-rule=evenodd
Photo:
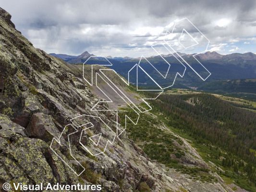
M256 113L202 93L161 95L150 105L171 131L192 140L205 160L225 169L219 175L256 191Z

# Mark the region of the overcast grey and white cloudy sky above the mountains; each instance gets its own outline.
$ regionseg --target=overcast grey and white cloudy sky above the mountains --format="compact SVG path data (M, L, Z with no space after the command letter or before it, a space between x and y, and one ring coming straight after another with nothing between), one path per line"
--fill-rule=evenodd
M183 18L210 41L207 50L256 53L256 0L5 0L0 7L36 48L48 53L156 55L151 45L163 42ZM199 34L189 26L186 32Z

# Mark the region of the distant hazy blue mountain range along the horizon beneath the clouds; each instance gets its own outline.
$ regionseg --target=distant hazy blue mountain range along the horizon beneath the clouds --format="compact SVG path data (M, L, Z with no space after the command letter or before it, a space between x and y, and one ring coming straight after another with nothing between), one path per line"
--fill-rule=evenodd
M195 54L184 54L179 53L192 67L196 66L196 61L193 57ZM62 60L65 60L69 63L84 63L90 56L95 56L93 54L85 51L80 56L71 56L71 55L63 55L63 54L54 54L50 55L58 57ZM174 54L177 57L177 54ZM163 57L166 61L168 61L171 65L171 72L179 71L181 64L177 61L177 59L172 55L161 55L161 56L151 56L147 57L147 60L158 67L159 72L166 71L166 62L161 58ZM229 90L229 92L247 90L247 93L255 93L253 89L255 89L254 81L235 81L236 83L232 83L232 81L223 81L223 80L234 80L234 79L256 79L256 54L254 53L232 53L228 55L221 55L215 51L206 52L202 54L198 54L195 56L197 60L199 60L211 75L204 82L202 81L196 73L187 65L185 65L186 72L181 78L177 76L175 84L173 87L177 88L198 88L198 90L205 91L214 91L214 90L224 90L225 92ZM130 57L106 57L111 63L112 66L109 66L111 69L114 69L116 72L124 76L128 79L128 72L133 68L133 66L139 62L140 58L130 58ZM96 61L100 64L104 64L107 62L103 60L102 57L95 57L94 59L86 62L87 64L95 64ZM152 74L154 71L152 71ZM136 79L136 73L130 72L130 79ZM148 78L146 75L140 75L142 86L152 87L156 84ZM156 80L162 84L164 84L165 79L162 79L159 75L159 78L156 77ZM207 83L212 82L212 83ZM228 82L228 83L226 83ZM244 82L243 84L237 82ZM131 82L135 83L135 82ZM237 84L237 85L236 85ZM232 86L231 86L232 85ZM242 86L242 88L241 88Z

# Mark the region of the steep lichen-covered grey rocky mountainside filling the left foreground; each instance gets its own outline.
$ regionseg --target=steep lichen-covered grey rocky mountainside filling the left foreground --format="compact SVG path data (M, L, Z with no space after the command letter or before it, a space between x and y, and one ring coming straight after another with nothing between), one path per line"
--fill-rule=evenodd
M93 94L94 88L83 80L83 66L34 48L10 19L11 15L0 9L0 191L5 182L11 184L10 192L20 182L44 186L58 182L100 184L105 192L232 192L211 171L214 165L204 162L185 139L170 132L151 113L146 116L155 119L152 129L168 134L179 152L176 154L182 154L169 158L199 172L207 169L204 177L209 180L196 180L190 173L151 160L129 137L131 132L116 137L98 156L90 155L75 136L70 136L71 156L66 125L72 123L72 118L99 116L112 127L115 113L90 111L102 98ZM89 74L90 66L86 68ZM100 108L104 110L108 105ZM103 123L98 124L97 129L103 127ZM49 148L53 138L60 138L61 143L54 149L66 163ZM78 170L79 165L85 171L78 176L72 169Z

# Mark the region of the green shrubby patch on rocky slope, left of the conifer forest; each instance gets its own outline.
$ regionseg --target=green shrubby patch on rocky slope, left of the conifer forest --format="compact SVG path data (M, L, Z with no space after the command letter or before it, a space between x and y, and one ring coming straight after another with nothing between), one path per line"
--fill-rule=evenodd
M124 113L120 111L120 117L128 115L132 119L135 118L135 113L132 109L122 108L122 110ZM122 117L120 123L124 126L125 118ZM182 158L185 153L181 147L183 141L160 127L162 127L162 122L158 118L152 114L144 113L141 114L136 126L127 121L126 131L129 133L129 137L138 143L151 159L157 160L169 168L175 168L183 174L190 175L190 179L217 182L215 177L208 174L210 170L184 165Z

